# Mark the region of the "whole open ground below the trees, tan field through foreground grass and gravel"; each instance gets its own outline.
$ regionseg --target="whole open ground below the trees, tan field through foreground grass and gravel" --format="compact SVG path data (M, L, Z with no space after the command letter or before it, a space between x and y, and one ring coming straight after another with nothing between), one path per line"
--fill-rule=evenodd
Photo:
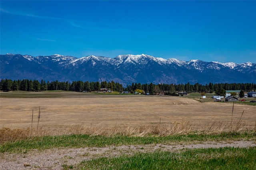
M0 102L0 169L256 167L255 106L232 114L232 103L76 92L1 92Z

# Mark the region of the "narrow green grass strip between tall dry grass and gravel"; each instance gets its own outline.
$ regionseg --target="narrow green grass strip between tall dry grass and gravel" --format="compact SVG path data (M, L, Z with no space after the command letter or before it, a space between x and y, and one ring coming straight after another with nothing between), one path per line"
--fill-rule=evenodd
M24 152L31 149L51 149L60 147L107 147L121 145L171 144L191 143L198 141L227 141L240 139L256 139L255 132L223 133L217 135L191 134L170 135L167 137L127 137L127 136L91 136L91 135L62 135L33 137L22 141L7 142L0 145L0 152Z

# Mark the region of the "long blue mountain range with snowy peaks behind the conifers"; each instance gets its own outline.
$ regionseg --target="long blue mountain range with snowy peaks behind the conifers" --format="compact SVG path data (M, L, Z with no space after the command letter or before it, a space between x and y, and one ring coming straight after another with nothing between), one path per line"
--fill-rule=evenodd
M132 82L190 84L256 82L256 64L181 61L150 55L118 55L115 58L65 55L32 57L0 55L0 78L46 81L114 81L124 86Z

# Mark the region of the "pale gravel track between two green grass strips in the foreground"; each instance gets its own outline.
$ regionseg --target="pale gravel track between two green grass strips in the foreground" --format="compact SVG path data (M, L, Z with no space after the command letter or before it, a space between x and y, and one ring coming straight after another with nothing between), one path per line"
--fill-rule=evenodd
M181 149L221 148L221 147L256 147L255 141L223 141L202 142L198 144L150 144L110 147L84 147L84 148L54 148L48 150L32 150L26 153L1 153L1 170L60 170L62 165L75 165L82 160L91 160L98 157L115 157L121 154L134 154L136 152L153 152L156 150L178 152Z

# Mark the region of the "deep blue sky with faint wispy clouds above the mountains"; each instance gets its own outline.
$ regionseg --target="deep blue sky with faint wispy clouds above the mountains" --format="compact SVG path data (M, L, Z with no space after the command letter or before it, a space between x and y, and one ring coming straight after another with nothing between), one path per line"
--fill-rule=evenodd
M0 53L256 63L256 1L0 1Z

